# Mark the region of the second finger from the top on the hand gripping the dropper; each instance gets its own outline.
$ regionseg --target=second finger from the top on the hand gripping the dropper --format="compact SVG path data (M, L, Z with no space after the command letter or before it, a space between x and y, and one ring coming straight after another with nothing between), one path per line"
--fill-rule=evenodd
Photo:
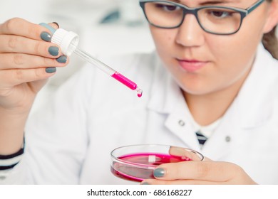
M58 58L61 49L58 45L21 36L0 35L0 53L26 53L46 58Z

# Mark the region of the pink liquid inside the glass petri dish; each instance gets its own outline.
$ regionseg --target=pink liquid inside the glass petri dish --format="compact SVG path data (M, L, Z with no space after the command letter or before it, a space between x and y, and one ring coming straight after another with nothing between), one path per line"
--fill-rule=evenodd
M118 178L123 178L128 181L141 182L144 179L155 178L153 170L155 166L162 163L175 163L180 161L191 161L186 156L171 156L169 154L128 154L118 157L120 160L128 163L113 162L111 172Z

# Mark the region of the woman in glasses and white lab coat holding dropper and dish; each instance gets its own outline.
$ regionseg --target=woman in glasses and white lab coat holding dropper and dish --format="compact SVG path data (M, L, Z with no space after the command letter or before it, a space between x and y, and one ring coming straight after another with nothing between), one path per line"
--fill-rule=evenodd
M156 180L143 184L277 184L278 1L140 5L158 55L106 63L138 82L143 98L83 68L27 125L36 94L56 72L53 66L65 66L68 58L48 43L48 28L20 18L1 24L1 159L23 153L26 131L25 156L2 161L2 181L127 183L109 171L112 149L170 144L213 161L164 164L155 169Z

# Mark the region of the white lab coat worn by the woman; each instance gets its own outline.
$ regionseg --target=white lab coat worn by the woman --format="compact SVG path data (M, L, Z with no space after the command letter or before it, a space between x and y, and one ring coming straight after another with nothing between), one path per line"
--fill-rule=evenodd
M29 119L24 159L2 183L128 184L110 173L110 151L168 144L236 163L257 183L278 184L278 63L262 45L239 95L202 149L180 88L155 53L106 63L136 82L143 97L83 67Z

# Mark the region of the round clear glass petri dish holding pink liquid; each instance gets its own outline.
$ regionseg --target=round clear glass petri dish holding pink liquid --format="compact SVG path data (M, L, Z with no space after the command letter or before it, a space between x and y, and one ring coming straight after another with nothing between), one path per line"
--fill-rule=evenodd
M192 149L160 144L121 146L111 151L110 156L110 170L114 176L137 182L155 178L153 170L160 164L204 159Z

